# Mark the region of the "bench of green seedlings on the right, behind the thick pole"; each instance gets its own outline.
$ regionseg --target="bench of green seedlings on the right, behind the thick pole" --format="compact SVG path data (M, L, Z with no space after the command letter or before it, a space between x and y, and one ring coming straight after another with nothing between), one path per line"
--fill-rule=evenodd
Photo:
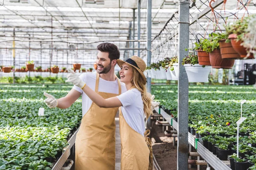
M177 126L177 85L154 85L151 92L161 102L163 117ZM215 170L230 169L226 164L233 164L233 159L229 162L227 158L236 153L236 122L243 99L247 99L243 104L243 117L247 119L239 127L239 156L249 160L246 166L256 163L255 96L256 89L248 86L189 85L189 143ZM198 138L203 145L197 142ZM218 150L227 150L227 156L217 158Z

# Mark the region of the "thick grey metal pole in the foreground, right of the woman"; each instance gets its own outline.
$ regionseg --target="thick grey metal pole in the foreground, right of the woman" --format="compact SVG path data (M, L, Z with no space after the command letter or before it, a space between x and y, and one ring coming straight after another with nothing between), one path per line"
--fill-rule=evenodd
M189 81L183 58L189 48L189 0L179 0L179 74L178 74L178 144L177 170L188 169L188 118L189 118Z

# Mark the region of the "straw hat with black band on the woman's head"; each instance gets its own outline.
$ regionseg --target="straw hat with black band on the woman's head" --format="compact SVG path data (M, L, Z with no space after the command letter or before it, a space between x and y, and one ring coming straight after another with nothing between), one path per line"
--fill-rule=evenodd
M143 59L141 59L138 56L132 56L131 58L126 59L125 61L121 59L117 59L117 64L119 65L119 67L121 67L123 63L131 65L133 68L135 68L140 73L140 76L142 77L143 82L145 82L146 84L146 77L143 74L143 72L145 71L147 65L143 61Z

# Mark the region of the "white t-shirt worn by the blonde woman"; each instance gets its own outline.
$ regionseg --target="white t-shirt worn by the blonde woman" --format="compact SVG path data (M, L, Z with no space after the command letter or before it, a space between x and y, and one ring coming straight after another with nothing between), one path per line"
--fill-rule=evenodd
M143 109L143 100L140 91L136 88L132 88L131 90L117 96L117 98L123 105L122 114L125 121L136 132L144 136L146 116Z

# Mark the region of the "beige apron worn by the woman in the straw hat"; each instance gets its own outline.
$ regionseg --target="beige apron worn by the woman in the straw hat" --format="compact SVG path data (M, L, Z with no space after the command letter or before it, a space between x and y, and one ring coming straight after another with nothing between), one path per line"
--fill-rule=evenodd
M151 140L131 128L125 121L119 107L119 128L121 137L121 170L153 170L153 154Z

